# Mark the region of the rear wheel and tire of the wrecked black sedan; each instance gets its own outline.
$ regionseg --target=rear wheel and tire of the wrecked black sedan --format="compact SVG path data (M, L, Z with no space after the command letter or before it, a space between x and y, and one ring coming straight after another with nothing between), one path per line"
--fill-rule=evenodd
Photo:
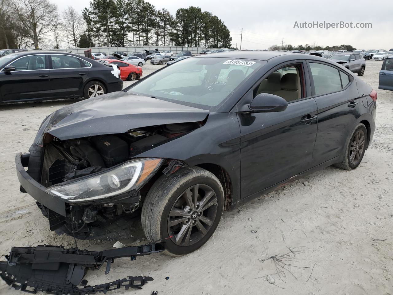
M358 134L360 135L359 137L357 137ZM364 124L359 123L355 127L351 135L347 138L342 162L336 163L334 165L338 168L345 169L345 170L353 170L357 166L359 166L360 162L362 162L365 150L368 146L367 138L368 137L367 137L366 127L364 126ZM352 149L352 153L351 153L351 149ZM353 153L357 153L354 156L354 160L356 161L351 160Z

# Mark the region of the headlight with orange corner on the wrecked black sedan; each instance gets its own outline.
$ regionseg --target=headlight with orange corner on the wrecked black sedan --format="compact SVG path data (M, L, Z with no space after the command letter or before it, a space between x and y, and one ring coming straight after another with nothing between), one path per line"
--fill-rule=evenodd
M92 177L49 187L46 192L70 203L95 201L137 190L161 166L163 159L147 158L125 162Z

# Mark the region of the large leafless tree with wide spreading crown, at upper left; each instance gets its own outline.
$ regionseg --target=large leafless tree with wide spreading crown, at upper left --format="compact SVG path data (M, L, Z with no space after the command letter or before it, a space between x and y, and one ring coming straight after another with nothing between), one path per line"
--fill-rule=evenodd
M35 49L45 41L57 22L57 6L48 0L11 0L18 21Z

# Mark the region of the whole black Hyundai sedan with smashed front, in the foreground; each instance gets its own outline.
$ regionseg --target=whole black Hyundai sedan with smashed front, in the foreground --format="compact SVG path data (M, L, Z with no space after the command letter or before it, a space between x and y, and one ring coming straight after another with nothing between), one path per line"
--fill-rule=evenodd
M140 212L149 241L187 254L223 210L332 164L355 169L373 138L376 98L314 55L189 57L53 112L30 153L16 155L17 175L51 230L115 239Z

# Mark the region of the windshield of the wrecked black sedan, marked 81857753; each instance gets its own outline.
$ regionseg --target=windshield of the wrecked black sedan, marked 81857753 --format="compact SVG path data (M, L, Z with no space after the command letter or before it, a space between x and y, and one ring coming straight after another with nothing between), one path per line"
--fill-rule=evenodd
M220 105L266 61L187 58L147 76L128 92L201 109Z

